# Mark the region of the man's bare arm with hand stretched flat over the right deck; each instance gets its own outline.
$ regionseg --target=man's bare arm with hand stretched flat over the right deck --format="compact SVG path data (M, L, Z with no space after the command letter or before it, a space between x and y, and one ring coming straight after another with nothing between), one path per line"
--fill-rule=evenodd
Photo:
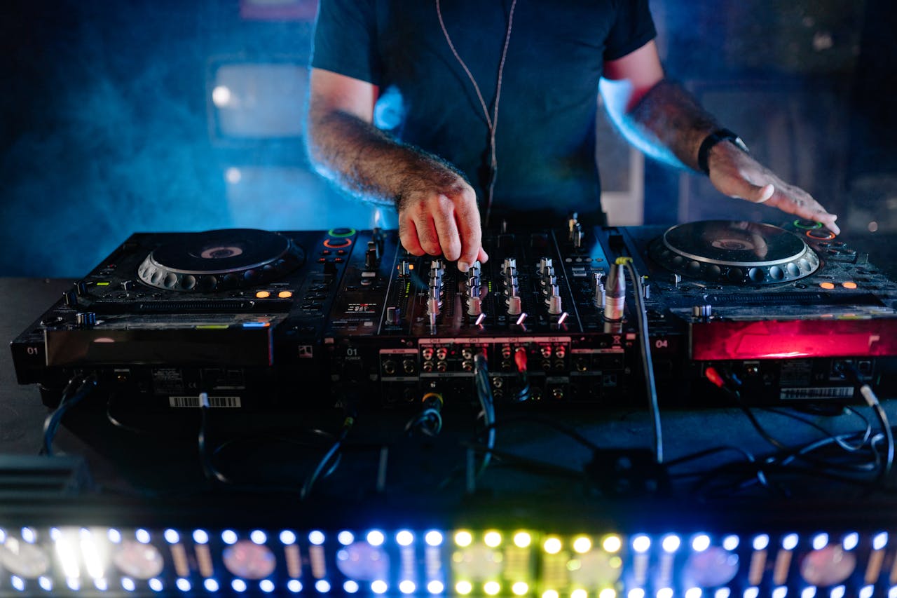
M691 94L664 79L653 41L617 60L605 62L601 92L623 134L647 154L699 170L703 140L719 128ZM735 144L713 145L707 160L710 182L732 198L767 203L788 214L825 224L840 233L835 220L804 189L788 185Z

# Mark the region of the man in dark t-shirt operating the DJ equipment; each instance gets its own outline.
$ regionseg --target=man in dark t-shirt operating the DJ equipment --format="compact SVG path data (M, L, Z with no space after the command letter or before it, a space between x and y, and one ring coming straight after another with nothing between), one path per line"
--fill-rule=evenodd
M466 271L488 259L481 220L603 217L600 81L646 153L839 233L837 216L666 81L655 34L648 0L321 0L309 154L344 189L395 205L407 251ZM387 90L401 101L391 134L374 124Z

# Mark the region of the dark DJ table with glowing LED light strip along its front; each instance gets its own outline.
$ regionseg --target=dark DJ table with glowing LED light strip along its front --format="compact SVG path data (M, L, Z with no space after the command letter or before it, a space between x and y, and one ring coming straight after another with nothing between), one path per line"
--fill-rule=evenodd
M0 279L5 338L71 284ZM783 598L897 587L893 472L879 483L868 460L831 447L781 457L864 430L862 418L877 434L862 406L749 409L772 440L732 401L662 407L665 467L647 405L500 408L479 471L483 438L464 409L447 410L433 436L406 432L414 413L361 409L338 461L327 461L344 422L335 409L73 409L57 456L38 457L49 409L15 383L8 353L0 383L0 595ZM882 399L897 419L897 401Z

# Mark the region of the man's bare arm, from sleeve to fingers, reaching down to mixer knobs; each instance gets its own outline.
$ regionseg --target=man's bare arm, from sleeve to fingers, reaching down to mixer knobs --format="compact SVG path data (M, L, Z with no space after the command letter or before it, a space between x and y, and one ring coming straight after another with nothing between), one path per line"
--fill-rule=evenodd
M414 255L444 255L466 271L486 261L476 193L439 157L374 127L376 85L313 68L309 156L318 171L361 198L398 210L399 239Z

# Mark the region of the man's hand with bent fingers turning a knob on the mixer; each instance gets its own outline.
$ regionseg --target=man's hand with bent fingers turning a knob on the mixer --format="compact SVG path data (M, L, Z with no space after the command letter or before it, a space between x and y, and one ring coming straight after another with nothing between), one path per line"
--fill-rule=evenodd
M442 255L466 272L475 259L485 262L476 193L451 171L408 180L396 201L398 235L413 255Z

